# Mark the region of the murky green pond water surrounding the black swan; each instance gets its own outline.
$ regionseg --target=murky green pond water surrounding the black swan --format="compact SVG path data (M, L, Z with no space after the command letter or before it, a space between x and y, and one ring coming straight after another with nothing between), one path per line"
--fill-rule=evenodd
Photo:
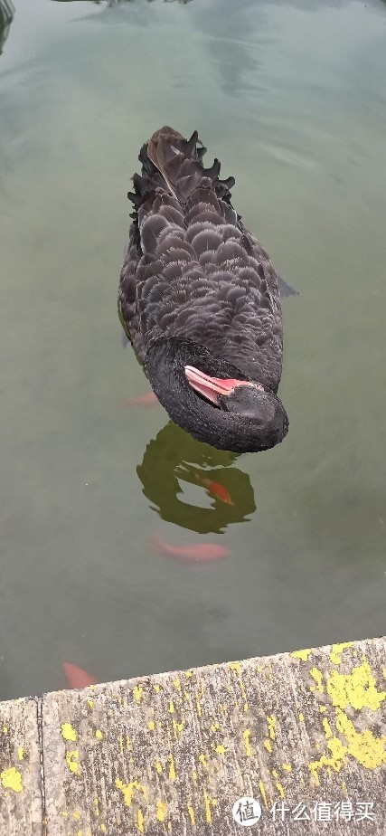
M386 632L386 5L14 4L0 698L61 688L64 660L120 679ZM211 451L125 405L148 390L117 317L126 193L165 123L199 129L302 294L283 303L290 429L273 451ZM231 556L180 565L156 535Z

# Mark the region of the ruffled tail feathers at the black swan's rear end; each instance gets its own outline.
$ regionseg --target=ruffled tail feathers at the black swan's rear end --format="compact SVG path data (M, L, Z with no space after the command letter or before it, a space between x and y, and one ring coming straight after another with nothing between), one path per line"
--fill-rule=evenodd
M142 176L134 175L135 192L129 192L127 197L133 201L137 215L138 208L145 203L155 190L161 188L170 195L174 195L180 204L186 204L194 189L212 181L216 197L231 204L230 189L234 185L234 177L220 180L220 162L214 160L211 168L202 166L202 157L206 148L202 146L195 130L190 139L184 137L174 128L160 128L155 131L141 148L139 161L142 163Z

